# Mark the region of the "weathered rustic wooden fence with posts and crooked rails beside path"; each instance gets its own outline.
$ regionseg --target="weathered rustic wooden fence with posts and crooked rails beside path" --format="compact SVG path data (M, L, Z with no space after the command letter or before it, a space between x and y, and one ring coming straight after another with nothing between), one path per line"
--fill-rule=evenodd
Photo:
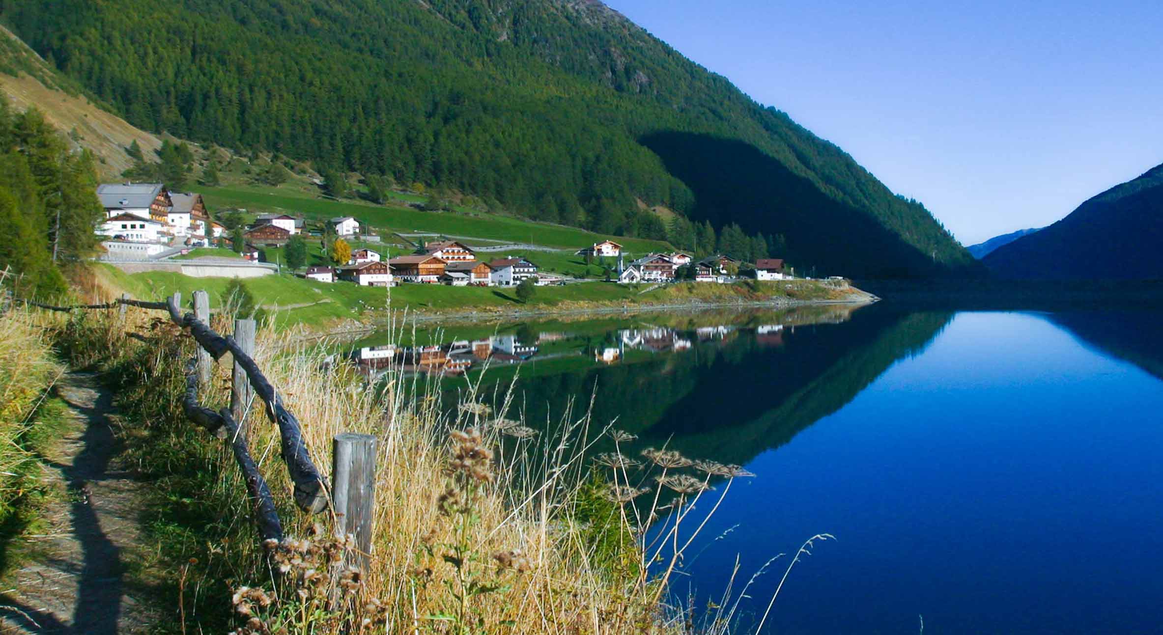
M333 447L333 475L340 483L336 484L333 498L327 479L311 459L299 420L286 408L281 395L251 357L255 338L254 320L235 320L233 337L219 335L208 324L209 300L204 291L194 292L192 313L183 313L180 293L174 293L164 302L134 300L128 294L113 302L67 307L28 300L17 301L30 307L66 313L120 308L121 315L124 315L126 307L130 306L166 311L170 320L186 329L199 345L197 355L185 364L186 392L181 402L183 411L190 421L230 444L235 462L245 480L259 540L263 543L271 540L281 541L283 526L271 490L250 455L247 444L248 430L240 424L240 421L244 420L251 393L263 401L267 416L279 428L283 462L293 484L295 505L308 514L317 514L331 507L336 518L336 533L354 535L357 552L364 558L370 552L371 518L374 508L376 437L350 433L336 435ZM228 352L234 359L235 368L230 391L231 407L215 412L199 402L199 388L208 385L213 361L220 359Z

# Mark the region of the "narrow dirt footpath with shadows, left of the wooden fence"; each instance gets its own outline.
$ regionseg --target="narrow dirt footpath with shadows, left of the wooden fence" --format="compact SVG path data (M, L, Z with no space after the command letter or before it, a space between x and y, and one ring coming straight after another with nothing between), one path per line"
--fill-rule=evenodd
M121 470L107 415L112 395L92 373L72 372L57 385L74 424L60 440L45 478L69 497L50 505L33 562L0 594L0 633L115 634L144 632L157 615L126 585L126 555L137 542L141 483ZM13 586L8 584L7 586Z

